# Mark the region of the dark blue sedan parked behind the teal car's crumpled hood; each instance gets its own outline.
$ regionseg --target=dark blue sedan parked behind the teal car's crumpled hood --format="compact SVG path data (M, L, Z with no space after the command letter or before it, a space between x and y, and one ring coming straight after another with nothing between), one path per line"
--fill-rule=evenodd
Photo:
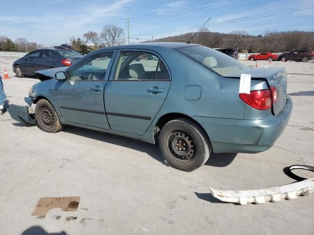
M68 45L34 50L14 61L12 69L18 77L34 75L35 71L70 66L83 55Z

